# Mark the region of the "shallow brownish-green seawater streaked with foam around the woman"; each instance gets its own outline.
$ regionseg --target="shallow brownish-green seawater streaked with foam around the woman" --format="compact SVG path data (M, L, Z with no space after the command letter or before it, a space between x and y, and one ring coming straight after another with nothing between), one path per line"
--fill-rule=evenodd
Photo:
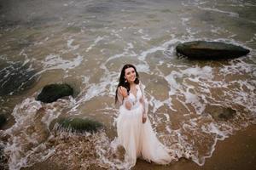
M146 85L155 132L178 156L203 165L218 140L255 124L254 1L13 0L0 4L1 71L20 63L37 77L28 89L0 97L0 111L9 114L14 124L1 131L9 136L4 145L10 169L51 156L60 162L61 148L67 147L72 149L66 151L71 161L80 150L90 150L85 147L87 138L97 141L91 146L95 159L82 154L82 161L69 166L124 168L122 154L116 156L109 146L116 136L115 88L126 63L137 66ZM177 43L198 39L233 42L251 52L221 61L177 57ZM53 82L69 83L74 97L47 105L36 101L41 88ZM236 116L228 121L213 119L209 112L219 107L232 108ZM58 116L93 117L107 128L91 138L74 135L65 140L61 133L49 130ZM84 145L76 146L79 140Z

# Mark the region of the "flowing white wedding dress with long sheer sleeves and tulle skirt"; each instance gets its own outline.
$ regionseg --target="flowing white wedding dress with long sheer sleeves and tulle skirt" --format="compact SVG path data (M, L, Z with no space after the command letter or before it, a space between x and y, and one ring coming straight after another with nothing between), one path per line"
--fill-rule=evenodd
M172 157L168 154L166 147L156 138L151 123L143 123L143 111L147 111L147 105L140 101L143 97L142 85L137 85L137 96L129 95L132 103L131 110L125 108L120 94L119 116L117 118L118 141L125 148L125 161L129 162L130 168L135 166L137 157L143 157L146 161L154 161L158 164L168 164Z

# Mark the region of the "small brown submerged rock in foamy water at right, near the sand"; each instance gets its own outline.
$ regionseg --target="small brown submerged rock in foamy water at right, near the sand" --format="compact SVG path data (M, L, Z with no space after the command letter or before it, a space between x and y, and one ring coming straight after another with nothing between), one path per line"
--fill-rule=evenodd
M236 111L232 108L218 105L207 105L205 112L209 113L215 121L228 121L236 116Z

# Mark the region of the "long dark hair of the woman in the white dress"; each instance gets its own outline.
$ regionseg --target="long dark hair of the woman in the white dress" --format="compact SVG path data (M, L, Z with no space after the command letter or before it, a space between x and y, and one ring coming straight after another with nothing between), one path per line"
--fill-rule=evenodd
M124 65L123 68L122 68L120 77L119 77L119 85L118 85L118 87L115 90L115 104L116 104L116 102L118 100L117 95L118 95L118 89L119 89L120 86L126 88L128 93L130 92L130 83L128 81L125 82L125 69L131 68L131 67L136 72L136 78L135 78L134 83L138 84L140 82L139 81L139 75L137 73L137 70L136 70L135 66L134 65L129 65L129 64Z

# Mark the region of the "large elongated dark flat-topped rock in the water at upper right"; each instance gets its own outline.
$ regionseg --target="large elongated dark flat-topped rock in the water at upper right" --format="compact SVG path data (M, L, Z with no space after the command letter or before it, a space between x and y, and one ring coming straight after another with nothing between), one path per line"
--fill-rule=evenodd
M230 59L250 52L234 44L207 41L183 42L177 45L176 51L189 59Z

